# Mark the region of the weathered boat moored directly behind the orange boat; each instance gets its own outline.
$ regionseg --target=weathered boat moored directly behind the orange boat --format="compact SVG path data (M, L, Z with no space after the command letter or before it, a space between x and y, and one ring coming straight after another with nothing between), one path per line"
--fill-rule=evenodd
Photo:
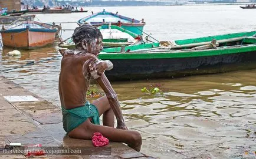
M0 16L0 24L9 24L14 21L19 20L24 20L24 21L33 21L35 18L35 15L21 15L21 16Z

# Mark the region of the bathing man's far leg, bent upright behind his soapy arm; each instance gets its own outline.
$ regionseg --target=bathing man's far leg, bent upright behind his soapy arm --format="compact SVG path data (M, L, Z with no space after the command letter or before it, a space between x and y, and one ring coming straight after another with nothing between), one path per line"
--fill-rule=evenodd
M99 116L103 114L103 126L114 127L114 111L110 107L107 96L94 100L92 104L97 107Z

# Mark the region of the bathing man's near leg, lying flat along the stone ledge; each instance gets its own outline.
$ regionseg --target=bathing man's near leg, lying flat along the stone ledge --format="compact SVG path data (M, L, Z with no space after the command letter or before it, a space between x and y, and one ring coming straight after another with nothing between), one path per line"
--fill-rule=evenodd
M100 132L104 137L109 138L110 141L126 143L129 147L136 151L140 151L140 147L142 146L142 136L140 136L140 133L137 131L99 126L92 124L89 120L84 121L83 124L72 130L68 136L91 140L91 137L95 132Z

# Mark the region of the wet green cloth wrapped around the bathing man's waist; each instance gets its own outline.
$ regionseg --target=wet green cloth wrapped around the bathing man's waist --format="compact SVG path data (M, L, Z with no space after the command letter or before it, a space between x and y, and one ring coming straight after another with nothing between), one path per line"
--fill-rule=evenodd
M63 106L61 106L61 108L63 114L63 128L67 133L84 123L88 117L92 119L91 122L93 124L100 125L99 111L96 106L90 104L88 101L84 106L74 109L65 109Z

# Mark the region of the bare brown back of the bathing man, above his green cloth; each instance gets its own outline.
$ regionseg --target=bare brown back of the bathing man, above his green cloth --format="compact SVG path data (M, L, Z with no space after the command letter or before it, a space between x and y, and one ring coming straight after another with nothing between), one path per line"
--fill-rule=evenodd
M93 56L88 53L63 56L59 78L59 93L61 105L66 109L73 109L86 103L90 77L84 77L83 65L91 57Z

